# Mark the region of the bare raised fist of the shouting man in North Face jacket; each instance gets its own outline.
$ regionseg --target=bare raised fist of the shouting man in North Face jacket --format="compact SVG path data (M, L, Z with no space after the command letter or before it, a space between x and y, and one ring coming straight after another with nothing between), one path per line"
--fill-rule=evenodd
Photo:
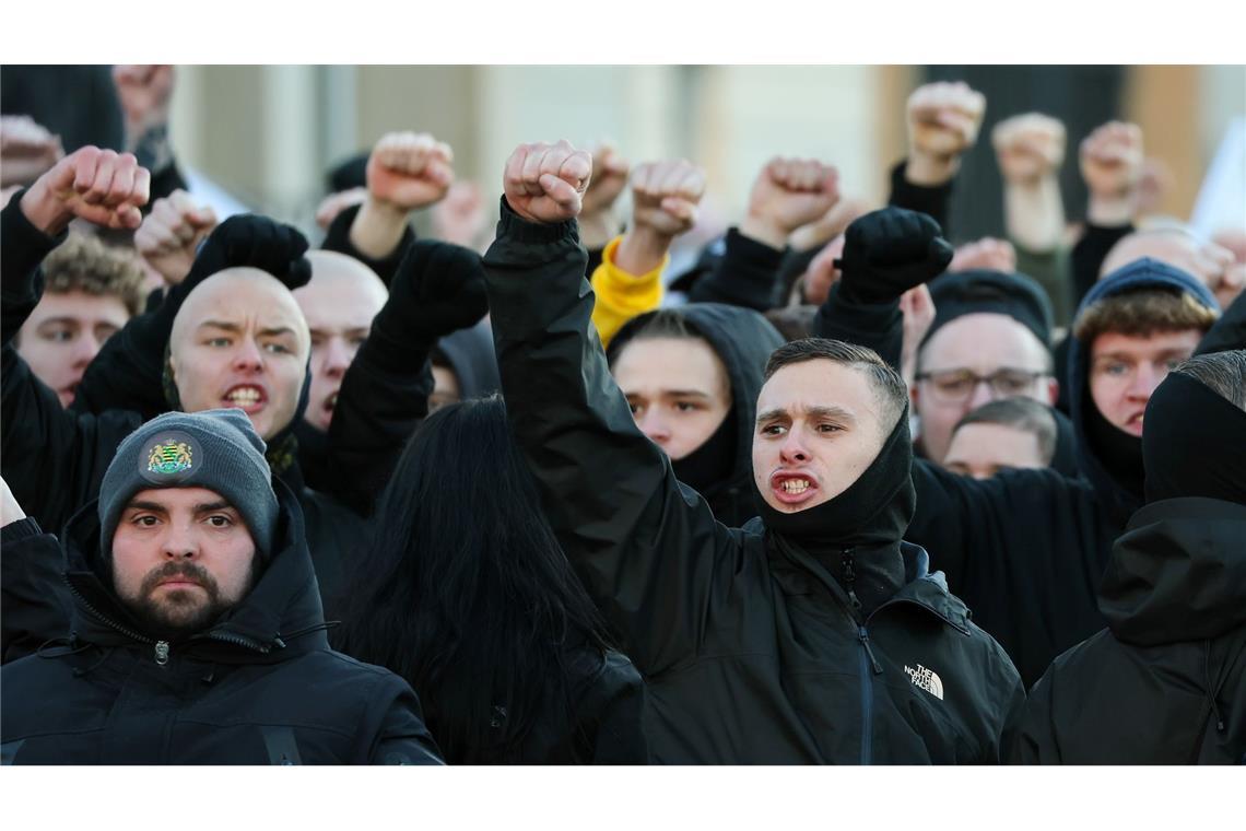
M506 161L502 189L511 211L523 219L564 222L579 214L592 173L592 157L566 140L520 145Z

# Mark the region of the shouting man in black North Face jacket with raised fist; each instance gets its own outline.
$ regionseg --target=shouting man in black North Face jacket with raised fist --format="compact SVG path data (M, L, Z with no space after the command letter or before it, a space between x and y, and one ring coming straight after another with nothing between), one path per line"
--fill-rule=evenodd
M741 425L763 516L721 525L637 429L591 325L574 222L591 169L566 142L518 147L485 270L508 417L559 543L645 675L654 760L998 761L1024 691L901 539L898 374L834 341L776 350ZM939 270L951 249L895 255Z

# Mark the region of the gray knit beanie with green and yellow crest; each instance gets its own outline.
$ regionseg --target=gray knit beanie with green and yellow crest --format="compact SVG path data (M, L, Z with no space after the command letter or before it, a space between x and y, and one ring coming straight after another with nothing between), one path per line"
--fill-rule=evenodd
M260 562L273 551L277 495L264 440L242 410L166 412L126 436L100 486L100 548L112 553L121 512L148 488L203 487L219 493L255 542Z

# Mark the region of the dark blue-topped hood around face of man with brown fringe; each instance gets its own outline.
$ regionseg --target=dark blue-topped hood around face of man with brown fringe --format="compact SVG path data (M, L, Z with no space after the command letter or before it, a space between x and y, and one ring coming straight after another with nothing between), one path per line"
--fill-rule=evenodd
M1143 288L1176 289L1210 309L1215 298L1197 279L1171 265L1143 258L1113 272L1087 293L1074 319L1106 297ZM1078 445L1078 466L1094 487L1110 522L1123 527L1143 505L1143 442L1111 426L1090 397L1090 344L1069 335L1069 417Z

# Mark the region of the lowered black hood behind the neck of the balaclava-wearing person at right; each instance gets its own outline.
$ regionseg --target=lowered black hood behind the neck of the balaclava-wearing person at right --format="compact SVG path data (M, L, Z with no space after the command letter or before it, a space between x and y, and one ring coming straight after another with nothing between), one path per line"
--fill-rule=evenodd
M1111 549L1099 610L1125 643L1215 638L1246 623L1246 505L1181 498L1134 515Z

